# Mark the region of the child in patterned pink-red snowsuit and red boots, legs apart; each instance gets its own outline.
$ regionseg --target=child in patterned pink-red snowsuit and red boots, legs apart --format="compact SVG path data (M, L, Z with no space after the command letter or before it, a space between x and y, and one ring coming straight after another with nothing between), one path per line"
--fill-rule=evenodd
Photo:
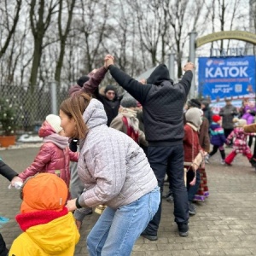
M246 119L233 119L235 123L234 130L230 133L227 138L227 143L230 143L233 140L233 148L230 154L226 157L225 163L228 166L231 166L232 161L236 157L236 154L241 153L247 156L248 160L251 160L252 153L251 149L247 145L247 133L243 130L243 126L247 124Z

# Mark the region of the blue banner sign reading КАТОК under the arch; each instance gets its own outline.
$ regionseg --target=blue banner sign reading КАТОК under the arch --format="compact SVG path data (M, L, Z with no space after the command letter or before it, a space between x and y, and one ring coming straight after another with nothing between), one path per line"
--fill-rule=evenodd
M255 97L255 56L199 57L199 95L209 102Z

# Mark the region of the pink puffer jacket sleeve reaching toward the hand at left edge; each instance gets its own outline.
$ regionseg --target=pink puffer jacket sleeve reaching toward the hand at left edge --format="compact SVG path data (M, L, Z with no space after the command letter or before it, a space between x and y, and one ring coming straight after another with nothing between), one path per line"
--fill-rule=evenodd
M40 148L38 155L36 156L35 160L32 162L32 165L26 168L24 172L19 174L19 177L23 180L26 180L27 177L31 177L38 172L42 172L44 167L49 163L51 160L51 151L49 147L44 143Z

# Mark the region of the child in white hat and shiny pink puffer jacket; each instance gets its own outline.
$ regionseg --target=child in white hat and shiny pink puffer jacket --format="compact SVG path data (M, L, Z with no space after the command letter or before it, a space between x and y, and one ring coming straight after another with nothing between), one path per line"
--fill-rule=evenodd
M44 137L44 144L32 165L21 172L19 177L24 182L27 177L31 177L38 172L55 173L65 181L69 188L69 162L70 160L77 162L79 153L74 153L68 148L68 138L63 136L60 117L49 114L39 129L38 135Z

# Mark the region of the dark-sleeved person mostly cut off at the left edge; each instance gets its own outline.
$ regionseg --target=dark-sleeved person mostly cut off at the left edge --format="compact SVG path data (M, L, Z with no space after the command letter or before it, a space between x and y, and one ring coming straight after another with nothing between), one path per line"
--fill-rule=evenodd
M22 179L18 177L18 173L15 172L11 167L6 165L3 160L0 159L0 174L3 177L6 177L13 186L15 186L15 182L21 182ZM0 234L0 256L7 256L9 253L9 249L6 247L5 241L3 240L3 236Z

